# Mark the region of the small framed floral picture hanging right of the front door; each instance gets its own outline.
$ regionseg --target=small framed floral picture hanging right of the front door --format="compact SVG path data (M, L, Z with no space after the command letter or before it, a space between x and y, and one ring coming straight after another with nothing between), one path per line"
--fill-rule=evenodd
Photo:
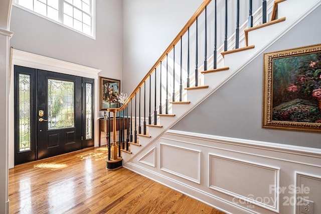
M99 77L99 111L119 108L120 80Z

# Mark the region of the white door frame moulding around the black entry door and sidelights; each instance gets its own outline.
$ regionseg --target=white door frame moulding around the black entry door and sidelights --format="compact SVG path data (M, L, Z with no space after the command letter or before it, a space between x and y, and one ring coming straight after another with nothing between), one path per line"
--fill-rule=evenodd
M58 59L53 59L25 51L11 48L11 69L9 76L9 113L8 118L15 118L14 111L14 65L36 68L40 70L53 71L57 73L69 74L94 79L94 146L98 146L98 73L100 69L78 65ZM8 141L9 141L9 169L15 167L15 123L8 121Z

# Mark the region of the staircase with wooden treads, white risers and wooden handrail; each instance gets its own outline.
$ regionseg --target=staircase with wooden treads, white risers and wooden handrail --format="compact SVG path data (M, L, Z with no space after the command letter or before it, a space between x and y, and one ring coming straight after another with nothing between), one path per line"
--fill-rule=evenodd
M210 2L211 2L210 0L204 1L204 3L199 7L199 9L196 11L193 17L189 20L186 26L179 33L179 35L174 39L172 44L168 47L168 49L164 52L164 54L158 59L155 65L146 74L145 78L139 83L139 85L136 87L134 92L129 96L126 102L121 106L121 108L110 109L109 110L110 112L124 111L127 105L129 108L130 101L133 102L134 98L136 98L135 94L138 96L137 93L140 92L141 88L144 88L143 86L145 81L147 81L148 78L150 78L150 75L154 72L157 66L159 66L159 64L165 60L166 53L169 53L173 49L173 46L176 43L178 43L179 40L181 39L181 35L184 35L186 33L187 29L189 29L189 27L192 26L192 24L195 22L196 18L200 16L202 12L204 12L205 7L208 6ZM314 4L315 2L318 2L318 1L313 1ZM202 103L203 100L205 100L208 96L214 93L220 86L222 86L225 82L227 82L230 78L232 78L235 74L237 74L246 64L250 63L254 56L256 56L259 53L262 53L269 45L273 43L273 41L276 41L278 37L282 36L282 34L284 34L289 29L291 29L297 22L299 22L300 19L302 19L302 17L304 17L307 14L307 12L310 11L312 7L309 4L302 3L302 1L294 1L294 0L291 0L291 1L276 0L274 2L270 1L268 2L268 4L273 5L273 7L271 8L272 10L270 12L271 20L264 24L261 24L259 21L258 23L254 23L254 25L255 24L257 25L251 28L245 28L247 26L246 25L247 23L245 23L245 25L241 27L241 30L242 28L243 29L245 28L244 33L243 35L242 34L240 35L240 38L241 38L240 41L242 41L242 38L244 38L244 43L245 43L244 47L235 49L235 41L234 43L233 41L231 41L229 45L229 47L233 48L232 50L224 51L223 46L220 47L218 49L218 52L221 51L221 56L217 57L217 62L218 62L218 66L221 66L221 67L204 70L204 64L203 64L200 67L200 69L203 69L203 71L201 71L200 73L204 75L204 85L185 87L184 89L186 91L184 92L187 93L186 95L188 99L187 101L171 101L170 103L172 104L172 112L173 112L172 114L168 113L169 110L166 110L167 113L164 113L165 104L161 105L156 110L156 112L159 113L159 114L156 114L156 116L158 117L158 120L156 119L155 114L151 117L154 119L154 121L156 119L157 124L154 122L150 124L146 124L145 126L147 128L145 130L145 133L144 131L142 131L141 128L139 128L141 130L141 132L139 132L139 129L137 128L136 143L134 142L134 138L132 138L132 141L130 141L130 137L128 133L128 137L127 137L128 149L125 149L125 148L120 149L123 164L130 161L133 157L135 157L135 155L137 155L140 151L142 151L144 147L154 142L156 139L162 136L167 130L169 130L172 126L178 123L180 119L182 119L185 115L187 115L189 112L195 109L200 103ZM287 10L287 8L290 7L289 5L293 5L293 4L295 4L297 8L301 8L300 10L301 14L294 13L293 11ZM261 10L259 10L257 13L260 13L260 16L262 17ZM277 16L282 16L282 17L277 18ZM233 35L232 37L235 37L235 35ZM208 62L209 66L213 66L214 63L217 63L213 61L214 61L213 56L211 56ZM195 76L193 74L191 80L193 80L194 77ZM170 98L173 98L173 96ZM139 97L137 99L139 99ZM159 112L160 109L162 109L161 112ZM156 112L154 111L154 113ZM134 125L133 122L132 122L132 125ZM137 122L137 126L138 126L138 122ZM141 127L143 126L144 125L142 125ZM116 136L116 134L114 136ZM125 139L120 139L120 142L126 143Z

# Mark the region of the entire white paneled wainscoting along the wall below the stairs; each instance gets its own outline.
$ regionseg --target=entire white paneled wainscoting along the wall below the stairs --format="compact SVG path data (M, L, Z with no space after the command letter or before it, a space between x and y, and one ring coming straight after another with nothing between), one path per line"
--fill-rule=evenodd
M169 130L123 167L226 213L299 214L307 195L321 213L321 149Z

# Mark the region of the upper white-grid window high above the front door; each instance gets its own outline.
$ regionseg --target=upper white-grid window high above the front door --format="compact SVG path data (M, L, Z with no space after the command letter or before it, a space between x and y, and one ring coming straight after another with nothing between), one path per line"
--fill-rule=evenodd
M16 4L93 37L94 0L15 0Z

